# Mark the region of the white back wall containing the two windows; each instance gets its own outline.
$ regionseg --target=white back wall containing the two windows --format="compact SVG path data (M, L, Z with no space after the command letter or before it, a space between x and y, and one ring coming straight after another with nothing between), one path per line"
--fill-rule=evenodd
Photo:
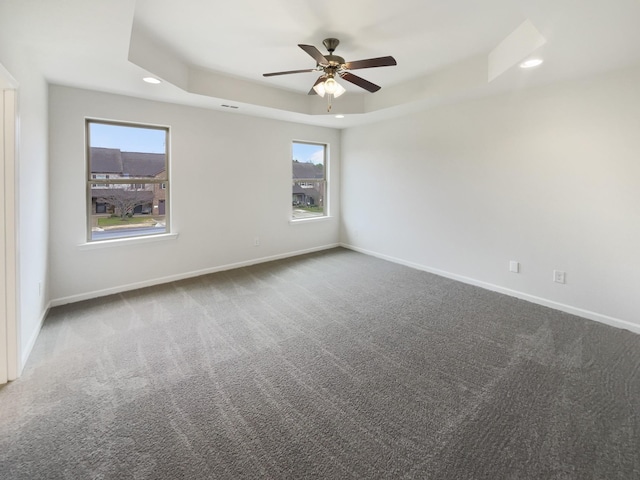
M51 298L90 298L336 245L340 131L62 86L49 89ZM176 240L86 249L85 117L171 127ZM329 219L290 224L291 142L330 145ZM260 246L254 238L260 237Z

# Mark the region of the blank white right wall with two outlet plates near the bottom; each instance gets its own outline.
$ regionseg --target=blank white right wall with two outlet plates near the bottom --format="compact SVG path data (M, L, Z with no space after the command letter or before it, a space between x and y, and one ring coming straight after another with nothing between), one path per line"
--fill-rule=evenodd
M640 332L638 85L636 68L344 131L342 241Z

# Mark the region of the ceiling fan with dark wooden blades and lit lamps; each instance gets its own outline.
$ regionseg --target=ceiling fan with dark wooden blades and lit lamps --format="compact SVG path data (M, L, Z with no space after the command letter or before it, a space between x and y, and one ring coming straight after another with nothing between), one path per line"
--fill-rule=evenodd
M335 81L336 77L340 77L347 82L353 83L358 87L364 88L369 92L377 92L380 90L380 86L375 83L371 83L362 77L354 75L349 70L357 70L360 68L372 68L372 67L390 67L397 65L395 58L393 57L378 57L368 58L366 60L357 60L355 62L345 62L344 58L334 55L333 52L340 44L340 40L337 38L325 38L322 41L323 45L329 51L329 55L322 55L320 51L313 45L298 44L298 46L307 52L316 61L315 68L309 68L306 70L289 70L286 72L273 72L265 73L265 77L273 77L276 75L289 75L292 73L307 73L307 72L322 72L322 75L318 77L316 83L313 84L309 95L320 95L324 97L325 93L330 97L338 97L342 95L345 90L338 82Z

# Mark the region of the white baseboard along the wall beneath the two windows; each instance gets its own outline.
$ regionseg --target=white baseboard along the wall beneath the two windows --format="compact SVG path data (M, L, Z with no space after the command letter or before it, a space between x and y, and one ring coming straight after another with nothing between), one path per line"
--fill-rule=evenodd
M320 247L308 248L305 250L297 250L294 252L281 253L278 255L272 255L269 257L254 258L243 262L229 263L226 265L219 265L216 267L205 268L202 270L196 270L192 272L184 272L176 275L169 275L166 277L154 278L145 280L143 282L129 283L127 285L118 285L117 287L105 288L103 290L96 290L93 292L81 293L78 295L71 295L68 297L56 298L50 302L50 307L57 307L60 305L66 305L68 303L81 302L83 300L90 300L92 298L104 297L107 295L113 295L115 293L127 292L129 290L136 290L138 288L153 287L155 285L161 285L163 283L175 282L178 280L184 280L186 278L199 277L200 275L207 275L209 273L223 272L225 270L233 270L234 268L248 267L250 265L257 265L259 263L272 262L274 260L282 260L283 258L297 257L307 253L319 252L322 250L328 250L330 248L339 247L339 243L333 243L330 245L323 245ZM38 329L39 331L39 329Z

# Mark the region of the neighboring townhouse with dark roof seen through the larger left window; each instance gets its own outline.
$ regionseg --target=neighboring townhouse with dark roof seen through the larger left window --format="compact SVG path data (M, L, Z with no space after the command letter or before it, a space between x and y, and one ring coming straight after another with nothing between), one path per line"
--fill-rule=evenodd
M117 148L91 147L91 178L122 180L131 178L164 178L165 156L162 153L122 152ZM135 195L131 213L165 214L165 183L113 183L91 185L91 213L113 213L109 198Z

